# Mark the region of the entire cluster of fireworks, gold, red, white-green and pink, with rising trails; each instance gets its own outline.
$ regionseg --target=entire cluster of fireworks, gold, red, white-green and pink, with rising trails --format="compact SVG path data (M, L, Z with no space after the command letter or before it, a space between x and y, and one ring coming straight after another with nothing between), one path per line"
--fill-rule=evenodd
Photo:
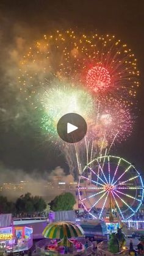
M131 134L139 70L131 49L114 35L56 31L27 48L19 66L21 93L36 108L41 104L41 131L61 148L73 173L75 163L81 173L99 152ZM82 115L88 126L74 145L57 134L57 122L70 112Z

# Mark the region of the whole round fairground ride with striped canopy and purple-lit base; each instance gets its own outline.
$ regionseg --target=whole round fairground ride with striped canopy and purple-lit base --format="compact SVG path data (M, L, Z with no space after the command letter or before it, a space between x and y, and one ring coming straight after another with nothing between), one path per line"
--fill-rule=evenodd
M45 255L81 255L92 244L84 238L81 226L69 221L53 222L43 230L45 240L36 244L37 252Z

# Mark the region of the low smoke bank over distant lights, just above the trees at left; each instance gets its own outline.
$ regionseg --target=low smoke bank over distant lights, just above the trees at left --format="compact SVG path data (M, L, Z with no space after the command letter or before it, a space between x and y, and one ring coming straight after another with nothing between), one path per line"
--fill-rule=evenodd
M15 200L30 192L33 196L41 196L49 202L60 193L69 191L70 183L74 183L73 176L66 175L61 167L56 167L50 173L45 170L40 174L33 170L31 174L27 174L24 170L10 170L1 164L0 173L0 195L7 196L9 200ZM59 182L65 185L59 185Z

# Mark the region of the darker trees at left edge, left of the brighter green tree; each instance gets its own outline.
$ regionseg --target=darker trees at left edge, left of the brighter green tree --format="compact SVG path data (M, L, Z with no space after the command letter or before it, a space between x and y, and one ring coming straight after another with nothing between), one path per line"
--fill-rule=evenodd
M7 197L0 196L0 213L12 213L27 215L39 214L46 209L46 202L42 197L32 196L26 193L20 196L16 202L9 202Z

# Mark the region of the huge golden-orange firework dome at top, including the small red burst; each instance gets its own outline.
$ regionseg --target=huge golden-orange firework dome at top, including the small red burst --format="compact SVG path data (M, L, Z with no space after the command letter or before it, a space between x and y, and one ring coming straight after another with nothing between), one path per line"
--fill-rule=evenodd
M20 90L30 102L45 78L54 77L81 83L96 92L97 98L109 93L109 98L128 104L132 104L139 87L137 59L126 44L114 35L84 35L72 30L44 35L20 61Z

